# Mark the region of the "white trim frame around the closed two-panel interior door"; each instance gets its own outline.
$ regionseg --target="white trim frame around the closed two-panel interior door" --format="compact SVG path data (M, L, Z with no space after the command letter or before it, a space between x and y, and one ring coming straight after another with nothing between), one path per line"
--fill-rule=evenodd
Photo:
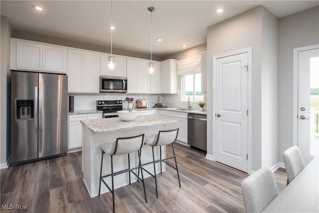
M237 55L241 53L248 53L248 144L247 144L247 154L248 154L248 162L247 162L247 173L250 175L253 173L252 171L252 47L235 50L231 52L226 52L213 56L213 156L212 160L216 161L216 60L223 57L228 57L232 55Z

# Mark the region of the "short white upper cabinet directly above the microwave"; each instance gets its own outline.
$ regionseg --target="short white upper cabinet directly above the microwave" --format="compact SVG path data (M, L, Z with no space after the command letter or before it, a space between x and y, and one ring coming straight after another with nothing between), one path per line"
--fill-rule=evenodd
M114 56L114 69L108 66L108 57L110 54L101 54L101 75L127 77L126 58Z

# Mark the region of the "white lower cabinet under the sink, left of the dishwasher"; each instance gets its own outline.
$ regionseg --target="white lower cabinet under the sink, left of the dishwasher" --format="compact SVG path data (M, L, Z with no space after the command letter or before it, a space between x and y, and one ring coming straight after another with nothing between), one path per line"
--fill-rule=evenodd
M162 110L160 110L160 113L161 111ZM167 128L168 130L179 128L176 141L187 144L187 112L173 112L165 110L165 117L178 121L177 123L168 124Z

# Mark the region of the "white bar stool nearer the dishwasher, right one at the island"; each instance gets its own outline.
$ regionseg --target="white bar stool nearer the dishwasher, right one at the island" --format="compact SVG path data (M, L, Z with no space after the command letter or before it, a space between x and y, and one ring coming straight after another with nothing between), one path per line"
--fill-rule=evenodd
M174 130L159 131L158 133L155 134L154 137L152 137L150 139L146 139L146 141L145 141L145 144L147 144L147 145L152 147L153 161L149 162L149 163L146 163L146 164L143 164L142 166L145 166L145 165L153 163L154 175L152 173L150 173L149 171L147 171L146 169L144 169L143 167L142 167L142 170L144 170L145 172L149 173L153 178L155 178L155 188L156 188L156 197L157 198L159 198L159 195L158 195L158 185L157 185L156 169L155 169L155 164L156 163L160 163L160 173L161 173L161 162L164 162L168 166L170 166L173 169L175 169L177 171L178 184L179 184L179 187L180 187L180 180L179 180L176 156L175 156L175 151L174 151L174 146L173 146L173 142L176 140L177 135L178 135L178 128L174 129ZM169 144L171 144L171 147L172 147L172 150L173 150L173 156L166 157L165 159L161 159L161 146L165 146L165 145L169 145ZM158 146L160 146L160 159L159 160L155 160L154 147L158 147ZM174 160L175 160L175 167L166 162L166 160L171 159L171 158L174 158ZM139 172L140 172L140 170L139 170Z

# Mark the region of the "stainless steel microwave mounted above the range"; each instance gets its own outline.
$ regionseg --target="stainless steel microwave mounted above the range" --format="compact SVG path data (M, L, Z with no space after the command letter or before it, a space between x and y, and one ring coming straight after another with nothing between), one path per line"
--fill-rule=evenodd
M100 92L127 92L128 78L100 76Z

